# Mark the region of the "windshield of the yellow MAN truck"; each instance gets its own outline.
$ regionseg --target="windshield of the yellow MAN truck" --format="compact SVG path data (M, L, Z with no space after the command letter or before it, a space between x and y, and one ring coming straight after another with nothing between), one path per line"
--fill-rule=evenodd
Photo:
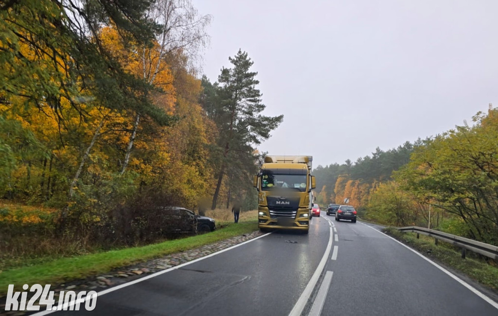
M282 171L263 170L261 175L261 189L271 191L287 188L300 192L306 191L306 173L292 171L283 173Z

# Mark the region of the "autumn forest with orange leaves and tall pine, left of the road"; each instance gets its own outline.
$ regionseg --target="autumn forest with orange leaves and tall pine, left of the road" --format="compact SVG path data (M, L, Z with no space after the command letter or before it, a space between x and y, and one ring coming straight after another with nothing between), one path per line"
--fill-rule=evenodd
M283 116L242 49L202 76L211 20L190 0L0 4L0 252L152 242L157 205L257 207Z

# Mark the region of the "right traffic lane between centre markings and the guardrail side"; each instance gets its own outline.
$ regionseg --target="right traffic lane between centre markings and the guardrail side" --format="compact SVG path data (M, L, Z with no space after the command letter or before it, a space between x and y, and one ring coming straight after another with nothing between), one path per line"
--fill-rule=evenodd
M496 303L396 240L360 222L333 223L336 258L325 269L332 278L321 315L498 315Z

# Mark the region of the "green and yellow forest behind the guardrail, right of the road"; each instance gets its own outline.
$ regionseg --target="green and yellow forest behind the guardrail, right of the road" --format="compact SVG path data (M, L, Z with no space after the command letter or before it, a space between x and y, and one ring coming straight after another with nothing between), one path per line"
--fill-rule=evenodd
M430 227L498 245L498 109L441 135L353 163L318 166L317 202L349 204L364 219ZM430 219L430 223L429 223Z

